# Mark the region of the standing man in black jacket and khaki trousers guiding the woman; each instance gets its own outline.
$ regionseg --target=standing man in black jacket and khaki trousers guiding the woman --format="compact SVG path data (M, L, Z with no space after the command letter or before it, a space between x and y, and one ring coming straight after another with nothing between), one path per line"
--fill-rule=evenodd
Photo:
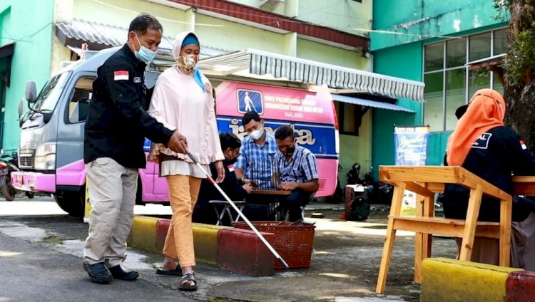
M128 29L128 42L98 68L93 82L83 152L92 207L83 269L96 283L139 276L121 264L132 226L138 169L146 167L145 137L187 152L185 137L146 113L150 100L144 73L161 37L162 26L155 17L137 16Z

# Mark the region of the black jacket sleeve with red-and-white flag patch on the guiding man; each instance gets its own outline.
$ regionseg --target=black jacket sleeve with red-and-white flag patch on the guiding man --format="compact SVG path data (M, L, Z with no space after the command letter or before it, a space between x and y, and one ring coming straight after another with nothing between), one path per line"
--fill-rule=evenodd
M121 79L118 79L116 72L121 71L126 71L128 78L123 75ZM162 123L148 115L146 110L142 108L141 100L145 96L138 93L138 84L133 82L133 78L136 75L133 67L129 66L128 63L113 62L102 68L102 73L111 100L115 103L118 112L123 115L123 118L142 130L149 140L167 144L171 135L173 135L173 131L164 127Z

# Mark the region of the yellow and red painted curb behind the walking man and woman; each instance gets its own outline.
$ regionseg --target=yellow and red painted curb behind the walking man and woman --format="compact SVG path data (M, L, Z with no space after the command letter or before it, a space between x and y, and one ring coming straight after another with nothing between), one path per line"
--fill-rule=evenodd
M162 253L169 226L170 219L136 216L127 244ZM263 236L269 242L274 239L271 233L263 233ZM272 254L253 231L194 223L193 244L195 261L250 276L275 274Z

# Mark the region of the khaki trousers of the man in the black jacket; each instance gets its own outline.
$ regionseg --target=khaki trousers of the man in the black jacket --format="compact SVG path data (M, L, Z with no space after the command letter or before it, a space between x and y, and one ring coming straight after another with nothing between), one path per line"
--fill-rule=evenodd
M86 172L91 212L83 260L88 264L106 262L108 267L122 264L136 204L138 170L100 157L86 164Z

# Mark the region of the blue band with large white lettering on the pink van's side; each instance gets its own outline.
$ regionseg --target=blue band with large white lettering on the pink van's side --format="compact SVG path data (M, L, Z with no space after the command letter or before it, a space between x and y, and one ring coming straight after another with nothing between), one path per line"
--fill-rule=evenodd
M312 151L317 158L338 158L336 146L332 143L335 142L335 127L325 124L264 120L265 130L269 132L274 132L282 125L290 125L294 128L297 144ZM233 132L240 137L240 140L247 135L241 125L241 118L218 117L218 130L219 132Z

